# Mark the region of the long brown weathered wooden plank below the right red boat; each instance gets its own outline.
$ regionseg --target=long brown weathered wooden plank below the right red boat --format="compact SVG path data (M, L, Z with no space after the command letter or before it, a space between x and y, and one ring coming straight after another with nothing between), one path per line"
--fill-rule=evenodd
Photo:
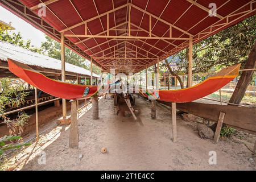
M167 105L170 103L164 102ZM238 130L256 134L256 108L231 105L203 104L188 102L177 104L177 109L201 118L217 122L220 112L225 113L224 123Z

